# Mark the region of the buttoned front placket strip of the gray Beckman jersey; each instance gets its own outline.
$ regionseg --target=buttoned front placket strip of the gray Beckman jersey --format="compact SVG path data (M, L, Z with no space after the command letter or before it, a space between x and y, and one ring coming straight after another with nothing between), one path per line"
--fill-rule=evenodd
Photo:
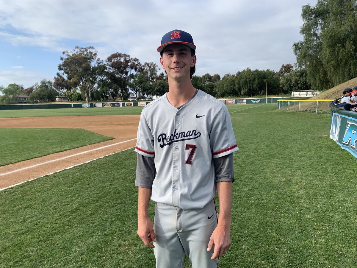
M174 119L174 131L181 132L182 129L182 115L180 110L177 110ZM172 143L172 205L180 207L180 173L181 173L181 142Z

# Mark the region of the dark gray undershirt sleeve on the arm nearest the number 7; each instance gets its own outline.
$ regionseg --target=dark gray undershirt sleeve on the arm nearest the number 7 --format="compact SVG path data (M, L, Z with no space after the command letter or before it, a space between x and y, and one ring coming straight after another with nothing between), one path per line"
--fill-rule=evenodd
M217 182L234 182L233 154L214 158Z

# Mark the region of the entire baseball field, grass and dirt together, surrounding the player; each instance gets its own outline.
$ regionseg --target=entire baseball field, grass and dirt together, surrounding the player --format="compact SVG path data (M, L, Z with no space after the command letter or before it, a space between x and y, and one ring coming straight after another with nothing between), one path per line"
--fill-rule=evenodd
M227 107L239 150L218 267L357 267L356 158L330 115ZM140 111L0 111L1 268L155 267L136 234Z

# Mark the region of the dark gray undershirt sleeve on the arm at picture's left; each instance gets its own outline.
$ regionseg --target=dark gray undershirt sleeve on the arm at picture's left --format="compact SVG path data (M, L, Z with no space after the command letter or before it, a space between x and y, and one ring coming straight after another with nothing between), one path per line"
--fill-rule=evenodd
M156 175L154 157L145 157L137 154L135 186L142 188L152 188Z

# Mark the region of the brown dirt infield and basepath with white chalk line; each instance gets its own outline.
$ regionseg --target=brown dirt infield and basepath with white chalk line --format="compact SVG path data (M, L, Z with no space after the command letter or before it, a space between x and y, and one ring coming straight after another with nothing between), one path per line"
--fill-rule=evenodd
M134 147L139 115L0 118L1 128L81 128L113 140L0 167L0 190Z

